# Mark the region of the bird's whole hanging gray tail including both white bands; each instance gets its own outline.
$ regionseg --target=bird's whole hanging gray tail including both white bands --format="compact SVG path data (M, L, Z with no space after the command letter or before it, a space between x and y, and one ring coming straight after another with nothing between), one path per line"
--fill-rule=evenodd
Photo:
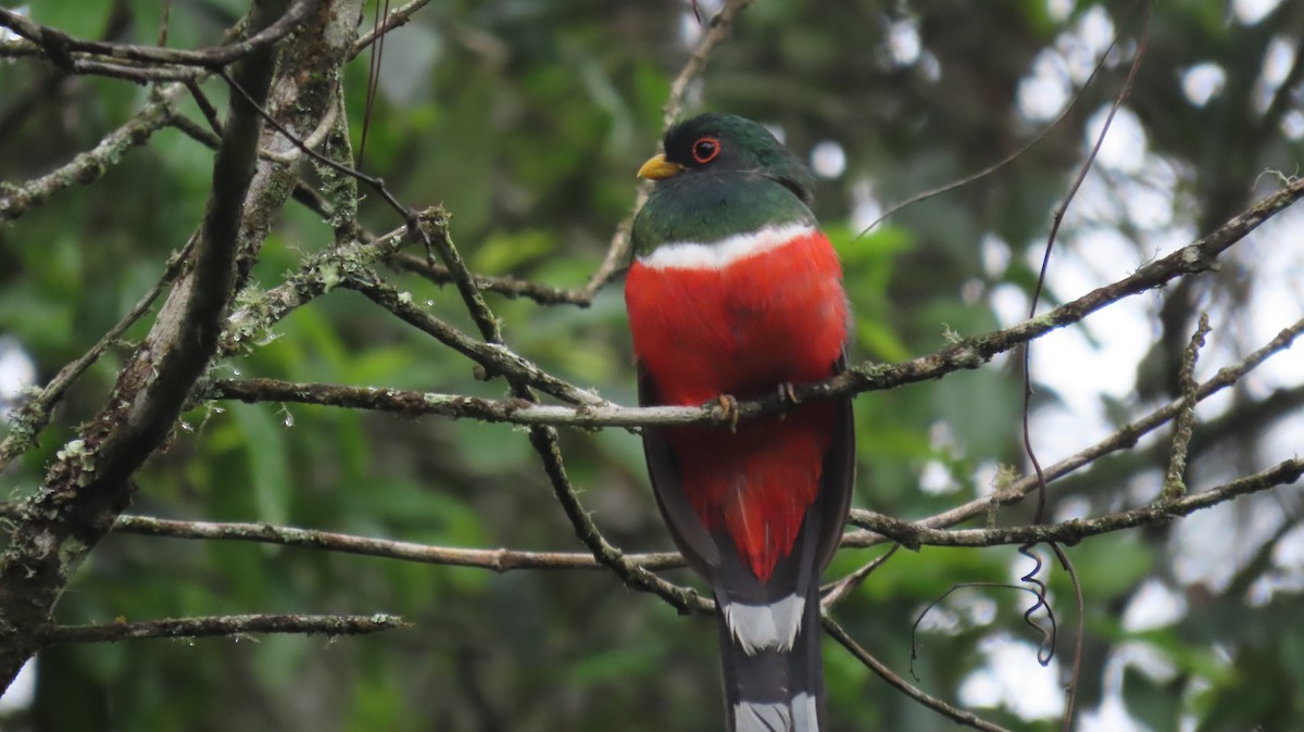
M717 617L729 731L825 729L818 585L812 582L805 598L721 606Z

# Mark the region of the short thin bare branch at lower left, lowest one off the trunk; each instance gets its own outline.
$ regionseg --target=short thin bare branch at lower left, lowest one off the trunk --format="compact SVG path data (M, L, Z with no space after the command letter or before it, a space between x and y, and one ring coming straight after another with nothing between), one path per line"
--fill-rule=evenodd
M211 638L256 633L299 636L369 636L381 630L411 628L396 615L216 615L108 623L104 625L56 625L40 633L42 646L67 643L117 643L146 638Z

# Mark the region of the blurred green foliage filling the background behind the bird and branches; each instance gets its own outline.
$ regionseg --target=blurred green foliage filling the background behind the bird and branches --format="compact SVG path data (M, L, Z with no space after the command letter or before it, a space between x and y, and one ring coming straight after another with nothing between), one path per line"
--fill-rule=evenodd
M1127 14L1127 4L1104 8L1134 38L1138 13ZM1154 9L1149 60L1129 103L1151 150L1180 167L1181 194L1194 214L1179 218L1193 218L1200 231L1251 201L1257 171L1304 158L1299 138L1265 122L1248 96L1266 46L1304 33L1300 9L1281 3L1257 23L1228 16L1221 0ZM73 35L136 43L154 42L159 12L154 0L30 7L37 21ZM170 43L215 43L243 12L235 0L176 0ZM822 141L841 146L845 169L820 182L818 214L844 259L857 317L854 359L900 361L940 348L948 331L992 330L994 289L1030 292L1035 275L1026 254L1039 253L1051 210L1082 158L1088 119L1116 92L1127 64L1108 65L1060 128L998 175L857 234L868 202L904 199L1020 147L1041 126L1020 113L1021 81L1039 53L1099 12L1090 3L1039 0L758 0L742 14L734 38L690 91L691 107L773 124L801 155ZM364 167L407 203L442 202L477 272L582 285L630 210L634 171L656 148L660 108L687 59L691 26L683 3L433 3L386 46ZM893 56L893 34L906 31L922 53ZM1181 95L1179 77L1205 61L1227 70L1227 92L1197 107ZM363 56L347 77L355 134L365 85ZM224 100L218 83L205 89ZM0 178L8 182L93 147L149 94L30 60L0 63ZM1299 111L1297 95L1278 115L1291 109ZM193 108L188 113L200 119ZM185 242L203 208L209 162L207 148L164 129L103 180L0 228L0 332L17 339L42 383L94 344ZM400 224L376 197L364 202L363 223L377 232ZM985 236L1008 242L1008 270L985 270ZM330 241L325 223L291 204L252 287L275 287ZM1144 249L1140 240L1137 246ZM451 288L398 272L391 281L472 330ZM588 309L499 297L492 306L518 353L608 399L635 401L618 283ZM128 343L87 373L40 444L3 475L10 498L39 483L53 452L100 405L129 343L146 327L137 324ZM462 357L349 292L300 309L274 336L218 374L503 393L501 383L477 382ZM996 365L857 400L857 504L914 518L986 494L982 475L998 464L1022 464L1020 393L1017 369ZM636 438L609 430L567 431L562 439L571 475L608 537L629 551L666 548ZM948 479L921 491L931 464ZM1136 500L1129 479L1159 469L1134 461L1089 485L1090 475L1101 475L1093 470L1056 491L1052 507L1077 500L1091 512L1116 509ZM458 547L580 548L524 436L506 426L202 405L184 417L138 482L133 511L146 514ZM1029 518L1024 508L999 516ZM882 551L846 551L833 570L854 570ZM1120 613L1138 587L1154 578L1175 582L1167 531L1103 537L1068 551L1086 593L1081 709L1094 709L1108 692L1108 659L1142 646L1172 673L1155 677L1116 664L1118 683L1127 707L1153 729L1178 729L1181 719L1194 727L1180 728L1201 731L1304 727L1297 590L1249 606L1245 591L1257 574L1237 577L1226 591L1178 586L1191 598L1180 621L1129 632ZM955 584L1007 582L1028 568L1012 548L901 551L836 616L906 675L911 623L925 606ZM1060 619L1063 669L1073 634L1072 589L1059 567L1047 564L1045 572ZM691 581L685 572L669 576ZM994 611L974 612L975 598L990 599ZM1026 600L990 589L949 597L935 611L943 620L926 623L918 637L919 685L955 702L966 677L987 663L983 643L994 636L1026 642L1017 675L1052 673L1033 659L1038 638L1020 617ZM59 620L240 612L391 612L413 628L361 640L51 649L39 656L33 706L12 714L4 728L689 732L720 724L713 621L678 617L604 572L493 574L301 548L111 535L69 589ZM825 656L835 729L951 728L836 645L827 645ZM1056 719L1022 719L1008 703L975 711L1015 729L1058 728Z

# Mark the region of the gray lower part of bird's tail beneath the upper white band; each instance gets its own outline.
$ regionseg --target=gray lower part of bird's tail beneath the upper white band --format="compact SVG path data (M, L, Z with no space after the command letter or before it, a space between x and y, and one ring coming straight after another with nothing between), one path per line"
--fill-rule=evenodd
M767 649L754 655L747 654L729 632L724 613L716 615L729 732L820 732L827 728L819 612L819 586L812 582L801 632L792 649Z

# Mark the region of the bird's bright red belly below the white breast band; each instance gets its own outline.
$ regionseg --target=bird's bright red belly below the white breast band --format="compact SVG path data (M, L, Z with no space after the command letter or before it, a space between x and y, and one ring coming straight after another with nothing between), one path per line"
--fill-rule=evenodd
M814 232L724 270L655 270L626 279L634 353L661 404L772 393L833 373L846 340L841 266ZM741 425L668 431L685 494L708 529L725 529L760 578L792 551L819 491L833 402Z

